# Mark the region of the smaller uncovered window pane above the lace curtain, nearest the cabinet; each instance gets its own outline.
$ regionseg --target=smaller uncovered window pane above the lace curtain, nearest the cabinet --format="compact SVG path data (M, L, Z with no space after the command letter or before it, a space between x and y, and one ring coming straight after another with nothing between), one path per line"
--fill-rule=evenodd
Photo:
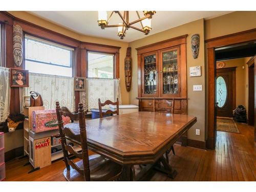
M88 52L88 77L89 78L114 78L113 54Z

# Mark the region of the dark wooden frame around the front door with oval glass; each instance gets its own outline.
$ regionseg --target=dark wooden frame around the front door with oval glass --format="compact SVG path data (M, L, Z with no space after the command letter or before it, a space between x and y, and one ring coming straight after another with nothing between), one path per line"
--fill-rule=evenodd
M236 102L237 102L236 69L237 67L216 69L216 72L220 72L220 73L232 72L232 109L236 108Z

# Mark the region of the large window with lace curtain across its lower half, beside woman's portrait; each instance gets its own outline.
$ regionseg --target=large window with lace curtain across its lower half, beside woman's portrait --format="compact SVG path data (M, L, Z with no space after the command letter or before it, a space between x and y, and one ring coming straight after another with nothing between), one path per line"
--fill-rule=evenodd
M29 70L30 91L41 94L46 110L55 102L74 111L74 49L44 39L25 36L25 69Z

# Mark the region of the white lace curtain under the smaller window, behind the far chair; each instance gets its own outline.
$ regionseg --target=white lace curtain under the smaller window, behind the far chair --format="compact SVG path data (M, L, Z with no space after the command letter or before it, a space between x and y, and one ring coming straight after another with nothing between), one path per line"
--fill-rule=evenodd
M87 99L84 99L84 96L80 97L80 100L87 100L89 111L92 108L99 108L99 98L101 102L105 102L105 100L116 101L118 97L121 104L120 79L87 79Z

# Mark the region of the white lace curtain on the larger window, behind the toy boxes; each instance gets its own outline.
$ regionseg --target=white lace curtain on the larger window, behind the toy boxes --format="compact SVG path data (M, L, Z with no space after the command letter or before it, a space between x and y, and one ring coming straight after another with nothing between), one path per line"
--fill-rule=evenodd
M60 106L74 111L73 77L29 73L29 88L25 88L25 95L29 96L30 91L41 94L46 110L55 109L55 102L59 101Z

